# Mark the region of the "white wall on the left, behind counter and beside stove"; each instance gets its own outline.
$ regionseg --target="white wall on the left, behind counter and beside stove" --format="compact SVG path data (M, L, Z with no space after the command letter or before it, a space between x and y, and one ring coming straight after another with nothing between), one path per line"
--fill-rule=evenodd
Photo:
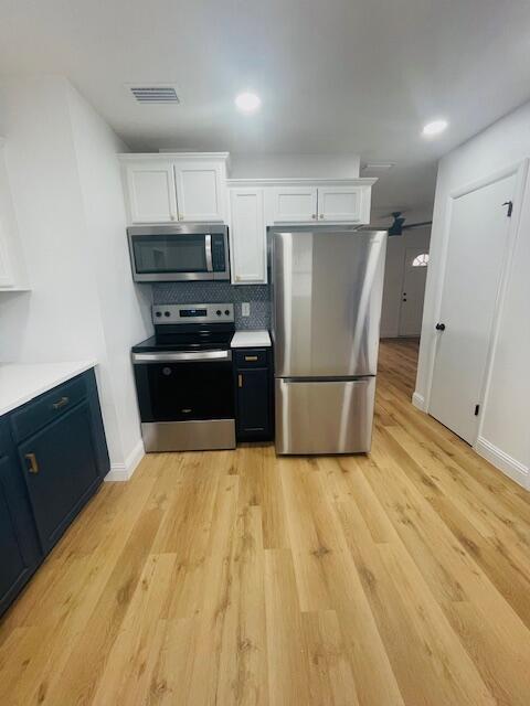
M96 360L110 461L125 475L141 451L128 354L151 330L149 292L128 269L126 148L60 77L2 82L0 133L32 287L0 295L0 360Z

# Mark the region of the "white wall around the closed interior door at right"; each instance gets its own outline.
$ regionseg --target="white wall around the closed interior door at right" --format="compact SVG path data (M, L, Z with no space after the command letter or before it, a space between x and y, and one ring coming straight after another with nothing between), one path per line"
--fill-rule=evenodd
M415 402L428 399L436 312L442 288L449 194L530 157L530 103L497 121L441 160L431 238ZM484 400L477 451L530 488L530 182L516 200L517 227L507 272L489 392ZM480 257L480 253L477 253ZM470 264L473 266L473 263Z

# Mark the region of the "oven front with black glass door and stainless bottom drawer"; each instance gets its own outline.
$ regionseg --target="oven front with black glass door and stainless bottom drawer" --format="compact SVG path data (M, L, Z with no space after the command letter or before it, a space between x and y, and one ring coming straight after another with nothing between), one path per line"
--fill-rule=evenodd
M235 448L230 350L132 353L146 451Z

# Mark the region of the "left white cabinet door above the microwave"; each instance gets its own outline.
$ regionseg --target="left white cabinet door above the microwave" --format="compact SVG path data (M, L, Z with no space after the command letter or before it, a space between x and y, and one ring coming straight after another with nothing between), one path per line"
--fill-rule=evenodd
M173 163L139 160L125 164L131 223L178 220Z

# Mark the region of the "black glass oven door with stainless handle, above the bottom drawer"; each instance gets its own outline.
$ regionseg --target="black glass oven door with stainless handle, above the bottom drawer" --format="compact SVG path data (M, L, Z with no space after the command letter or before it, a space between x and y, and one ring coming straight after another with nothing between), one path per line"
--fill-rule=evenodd
M234 419L231 351L134 353L142 422Z

